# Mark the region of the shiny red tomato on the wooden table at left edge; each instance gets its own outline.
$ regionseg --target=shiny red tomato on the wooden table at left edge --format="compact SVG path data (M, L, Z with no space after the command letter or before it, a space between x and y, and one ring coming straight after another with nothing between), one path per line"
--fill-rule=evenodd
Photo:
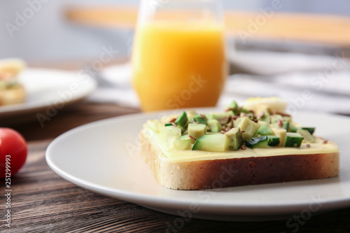
M9 128L0 128L0 178L15 175L27 159L23 136Z

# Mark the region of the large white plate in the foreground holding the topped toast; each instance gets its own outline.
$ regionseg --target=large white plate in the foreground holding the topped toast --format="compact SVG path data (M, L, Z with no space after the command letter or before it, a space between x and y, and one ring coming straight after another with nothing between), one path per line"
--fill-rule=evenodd
M350 118L295 116L302 125L316 125L318 135L339 143L342 171L337 178L185 191L158 185L139 155L139 130L160 115L125 115L72 129L50 143L46 161L59 176L82 188L185 220L276 220L350 206Z

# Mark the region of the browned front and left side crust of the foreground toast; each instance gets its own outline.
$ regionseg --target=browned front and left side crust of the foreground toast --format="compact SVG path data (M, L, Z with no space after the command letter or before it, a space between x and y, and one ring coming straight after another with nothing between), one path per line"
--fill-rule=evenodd
M155 179L160 185L175 190L305 181L339 175L339 152L172 162L143 132L140 140L142 155Z

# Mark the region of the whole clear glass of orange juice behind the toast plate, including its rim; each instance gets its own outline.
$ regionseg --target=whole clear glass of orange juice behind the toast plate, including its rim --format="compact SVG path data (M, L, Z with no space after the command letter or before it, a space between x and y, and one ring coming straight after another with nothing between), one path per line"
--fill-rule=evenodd
M228 64L221 2L141 0L132 83L143 111L216 106Z

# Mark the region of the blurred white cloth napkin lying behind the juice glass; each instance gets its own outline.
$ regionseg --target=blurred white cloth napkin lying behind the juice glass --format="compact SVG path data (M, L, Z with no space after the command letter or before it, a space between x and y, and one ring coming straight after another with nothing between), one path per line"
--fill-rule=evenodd
M232 52L230 62L253 74L235 74L225 84L218 106L232 99L281 97L290 109L350 114L350 60L344 55L320 56L283 52ZM130 64L109 66L100 86L89 98L138 107L132 90Z

